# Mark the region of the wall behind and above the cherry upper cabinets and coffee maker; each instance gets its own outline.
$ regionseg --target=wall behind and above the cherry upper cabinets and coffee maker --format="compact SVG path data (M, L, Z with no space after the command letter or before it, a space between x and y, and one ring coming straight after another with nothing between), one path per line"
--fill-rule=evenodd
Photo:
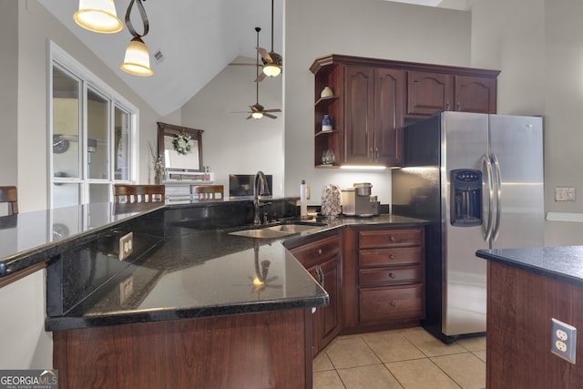
M285 193L298 195L306 179L312 187L309 204L319 204L328 183L345 187L372 182L373 195L389 203L388 170L314 169L309 68L315 58L329 54L469 66L471 15L384 0L292 0L285 2L284 16Z

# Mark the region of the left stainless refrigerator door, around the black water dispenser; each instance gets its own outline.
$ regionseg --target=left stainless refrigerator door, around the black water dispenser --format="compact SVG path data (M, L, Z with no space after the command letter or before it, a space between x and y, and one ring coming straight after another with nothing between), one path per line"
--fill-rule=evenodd
M444 112L442 130L443 263L442 332L447 336L486 331L486 261L476 250L487 249L482 225L453 226L450 172L454 169L482 169L488 152L488 116ZM483 178L486 171L482 171ZM486 188L487 190L487 188Z

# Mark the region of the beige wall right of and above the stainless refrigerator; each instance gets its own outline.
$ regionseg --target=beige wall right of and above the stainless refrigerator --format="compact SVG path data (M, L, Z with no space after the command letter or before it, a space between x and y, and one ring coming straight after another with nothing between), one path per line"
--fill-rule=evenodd
M583 3L488 0L472 12L472 65L495 67L498 112L544 116L545 212L583 213ZM555 187L576 201L556 202ZM583 243L583 223L546 221L547 246Z

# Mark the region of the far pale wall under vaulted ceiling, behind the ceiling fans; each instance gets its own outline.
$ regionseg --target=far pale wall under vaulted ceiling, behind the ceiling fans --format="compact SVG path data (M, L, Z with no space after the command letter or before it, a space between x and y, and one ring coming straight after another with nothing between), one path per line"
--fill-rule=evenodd
M252 37L252 36L251 36ZM252 40L252 39L251 39ZM255 63L239 57L235 63ZM256 67L228 66L182 109L182 126L203 129L203 160L215 183L229 193L229 174L273 175L273 194L283 195L283 119L246 119L255 104ZM281 77L266 77L259 84L259 103L281 109ZM299 192L298 192L299 193Z

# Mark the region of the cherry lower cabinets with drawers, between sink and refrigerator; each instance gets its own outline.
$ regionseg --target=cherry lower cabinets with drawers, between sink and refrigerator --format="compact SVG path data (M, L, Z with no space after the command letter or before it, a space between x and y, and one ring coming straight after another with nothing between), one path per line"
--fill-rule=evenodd
M424 318L424 227L350 227L286 244L330 295L312 314L312 352L340 333L418 325Z

